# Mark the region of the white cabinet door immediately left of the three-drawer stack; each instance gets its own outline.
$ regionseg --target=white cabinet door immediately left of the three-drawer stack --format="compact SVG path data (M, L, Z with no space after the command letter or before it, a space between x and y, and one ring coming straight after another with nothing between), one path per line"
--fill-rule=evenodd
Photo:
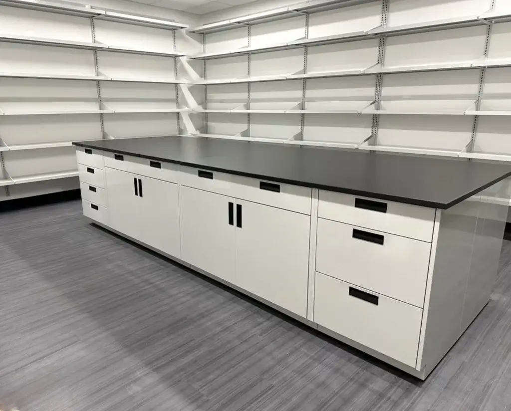
M236 209L238 285L307 317L310 216L241 200Z

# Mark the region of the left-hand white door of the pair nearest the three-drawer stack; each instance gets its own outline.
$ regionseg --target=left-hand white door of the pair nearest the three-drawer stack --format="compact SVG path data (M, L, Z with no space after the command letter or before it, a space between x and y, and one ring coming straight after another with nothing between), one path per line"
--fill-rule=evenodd
M234 199L181 186L181 225L181 258L236 284Z

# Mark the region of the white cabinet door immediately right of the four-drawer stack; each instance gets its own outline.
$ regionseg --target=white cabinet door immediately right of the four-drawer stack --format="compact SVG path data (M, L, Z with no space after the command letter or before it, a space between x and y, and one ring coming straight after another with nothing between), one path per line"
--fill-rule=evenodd
M105 168L108 196L109 225L114 230L139 239L140 210L142 200L135 195L134 179L131 173Z

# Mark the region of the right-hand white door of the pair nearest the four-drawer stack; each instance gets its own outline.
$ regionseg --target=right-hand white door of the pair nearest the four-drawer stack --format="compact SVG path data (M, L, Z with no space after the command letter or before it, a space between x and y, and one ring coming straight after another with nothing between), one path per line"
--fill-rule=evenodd
M140 237L137 239L159 251L181 258L177 184L134 176L140 180L142 188L138 192L142 208L138 210Z

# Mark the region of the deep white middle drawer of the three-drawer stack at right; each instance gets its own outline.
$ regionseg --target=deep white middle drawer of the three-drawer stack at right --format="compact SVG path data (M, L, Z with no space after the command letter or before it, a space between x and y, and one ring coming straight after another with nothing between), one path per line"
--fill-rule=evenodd
M422 307L431 244L318 219L316 271Z

